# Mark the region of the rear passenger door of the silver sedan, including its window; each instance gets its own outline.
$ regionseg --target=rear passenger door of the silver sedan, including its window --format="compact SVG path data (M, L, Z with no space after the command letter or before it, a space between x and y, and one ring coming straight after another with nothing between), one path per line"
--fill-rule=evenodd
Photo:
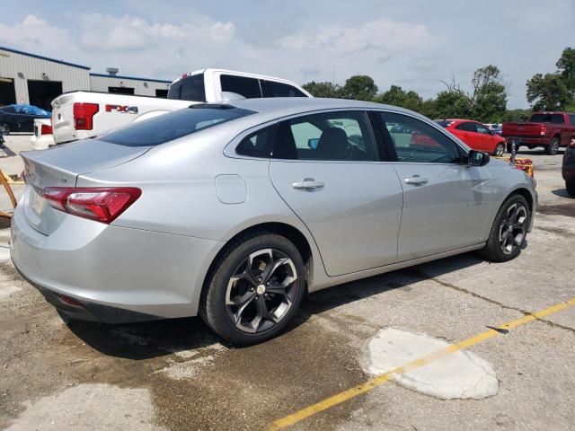
M403 190L363 110L279 124L270 179L314 236L329 276L397 259Z

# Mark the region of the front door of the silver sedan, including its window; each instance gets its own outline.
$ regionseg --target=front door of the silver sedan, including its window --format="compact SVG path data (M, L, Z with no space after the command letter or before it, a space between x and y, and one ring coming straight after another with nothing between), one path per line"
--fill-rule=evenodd
M463 148L427 122L397 112L379 115L418 136L406 139L404 134L396 136L394 129L386 136L403 186L398 259L416 259L484 241L490 197L487 170L463 163Z

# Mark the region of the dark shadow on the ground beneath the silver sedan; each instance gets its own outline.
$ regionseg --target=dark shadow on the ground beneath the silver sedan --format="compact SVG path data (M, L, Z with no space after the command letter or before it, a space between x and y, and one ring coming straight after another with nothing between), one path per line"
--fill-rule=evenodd
M422 264L315 292L305 296L286 332L296 329L314 314L393 289L409 288L411 284L423 279L438 277L481 262L482 259L477 255L466 253L434 261L432 265ZM209 347L217 343L232 347L219 339L197 317L122 325L67 321L66 316L63 316L63 319L75 336L108 356L140 360L170 355L182 350Z

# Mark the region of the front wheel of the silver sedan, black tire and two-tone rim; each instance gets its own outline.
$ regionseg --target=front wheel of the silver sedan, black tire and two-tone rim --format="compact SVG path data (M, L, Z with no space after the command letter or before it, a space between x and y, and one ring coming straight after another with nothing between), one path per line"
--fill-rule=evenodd
M514 219L514 216L517 216ZM478 253L494 262L517 258L526 242L531 212L521 195L511 195L495 216L489 238ZM507 234L506 234L507 233Z

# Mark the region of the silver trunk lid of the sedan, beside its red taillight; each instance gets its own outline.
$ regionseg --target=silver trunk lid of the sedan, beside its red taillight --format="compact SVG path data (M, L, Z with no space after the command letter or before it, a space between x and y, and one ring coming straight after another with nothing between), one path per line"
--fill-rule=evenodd
M23 207L28 223L40 233L53 233L67 215L49 206L42 197L44 188L75 187L78 175L127 163L149 149L149 146L115 145L86 139L48 150L22 152L26 171Z

